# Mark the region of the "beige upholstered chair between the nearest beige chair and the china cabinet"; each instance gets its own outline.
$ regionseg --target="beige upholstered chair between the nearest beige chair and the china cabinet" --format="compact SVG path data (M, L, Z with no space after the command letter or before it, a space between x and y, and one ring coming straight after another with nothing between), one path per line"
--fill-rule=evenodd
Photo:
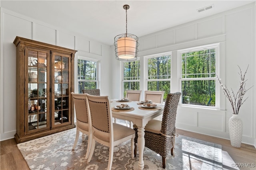
M85 140L85 134L88 135L88 146L85 158L88 159L90 148L92 144L92 125L90 121L90 114L88 110L87 94L75 94L71 92L74 106L76 110L76 139L72 150L75 149L80 132L82 132L82 140Z

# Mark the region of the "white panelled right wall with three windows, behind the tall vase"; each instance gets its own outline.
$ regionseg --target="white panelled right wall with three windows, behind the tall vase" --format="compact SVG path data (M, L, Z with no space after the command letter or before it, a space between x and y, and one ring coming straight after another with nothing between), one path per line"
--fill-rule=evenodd
M140 61L143 62L145 55L172 51L172 63L174 68L177 68L175 64L178 64L178 49L220 43L218 76L224 81L222 83L234 90L238 88L240 80L237 65L244 71L249 64L246 87L254 87L246 94L248 99L242 105L239 116L244 124L242 142L254 146L256 146L255 19L255 3L248 4L140 37L138 54ZM111 63L114 64L111 66L111 95L120 98L122 87L120 62L116 61L114 55L114 47L112 47ZM172 83L171 92L178 91L180 89L178 80L172 80ZM229 139L228 119L231 116L230 103L225 99L223 92L220 92L220 109L178 106L176 128Z

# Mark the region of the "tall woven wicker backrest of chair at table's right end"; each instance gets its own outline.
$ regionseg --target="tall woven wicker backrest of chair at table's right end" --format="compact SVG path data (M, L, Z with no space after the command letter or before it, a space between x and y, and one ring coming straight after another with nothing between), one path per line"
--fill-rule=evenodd
M180 95L180 92L170 93L167 95L161 127L161 133L165 135L175 134L176 112Z

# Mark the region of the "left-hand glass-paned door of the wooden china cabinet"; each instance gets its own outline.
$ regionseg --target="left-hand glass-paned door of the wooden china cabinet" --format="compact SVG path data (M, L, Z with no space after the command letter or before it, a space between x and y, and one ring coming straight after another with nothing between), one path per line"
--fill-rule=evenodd
M49 51L25 49L25 62L28 64L26 72L28 78L25 80L27 88L25 94L25 133L50 129L50 113L47 108L49 100L48 89L48 59ZM26 114L27 113L27 114Z

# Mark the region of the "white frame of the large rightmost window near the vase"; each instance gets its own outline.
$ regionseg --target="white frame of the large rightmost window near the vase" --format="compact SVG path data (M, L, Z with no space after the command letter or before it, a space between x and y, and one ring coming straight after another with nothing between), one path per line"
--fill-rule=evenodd
M202 45L198 47L191 47L186 49L177 50L178 51L178 61L179 61L179 91L182 91L182 80L215 80L215 106L202 106L202 105L194 105L194 104L182 104L182 100L180 100L179 104L180 106L188 106L188 107L201 107L201 108L208 108L208 109L219 109L220 108L220 88L219 84L216 81L215 77L209 77L209 78L182 78L182 53L188 53L192 51L200 51L200 50L206 50L206 49L212 49L215 48L215 74L218 75L219 70L219 62L220 61L220 43L214 43L209 45Z

